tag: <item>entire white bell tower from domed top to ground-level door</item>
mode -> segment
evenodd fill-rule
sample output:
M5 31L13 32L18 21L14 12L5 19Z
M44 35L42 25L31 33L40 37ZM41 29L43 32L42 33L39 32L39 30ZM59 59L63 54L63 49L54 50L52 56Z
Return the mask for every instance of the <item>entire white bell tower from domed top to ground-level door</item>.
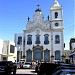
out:
M63 40L63 12L62 7L57 0L54 0L50 8L50 24L51 24L51 55L53 59L61 59L64 53L64 40ZM58 46L58 47L57 47ZM60 48L59 48L60 47ZM59 52L59 58L55 52ZM53 60L52 59L52 60Z

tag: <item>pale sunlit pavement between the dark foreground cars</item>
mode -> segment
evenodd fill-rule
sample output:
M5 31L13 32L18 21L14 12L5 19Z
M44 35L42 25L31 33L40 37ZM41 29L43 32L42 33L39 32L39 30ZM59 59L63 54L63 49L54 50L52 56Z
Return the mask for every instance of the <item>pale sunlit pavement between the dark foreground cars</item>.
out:
M37 75L33 69L17 69L16 75Z

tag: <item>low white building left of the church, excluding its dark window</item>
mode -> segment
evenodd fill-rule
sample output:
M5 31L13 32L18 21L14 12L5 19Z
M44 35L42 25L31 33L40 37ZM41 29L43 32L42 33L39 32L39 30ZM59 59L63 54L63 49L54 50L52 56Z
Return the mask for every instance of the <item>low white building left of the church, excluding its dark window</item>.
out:
M10 53L10 45L14 46L14 53ZM17 59L17 48L15 43L8 40L0 39L0 60L13 61Z

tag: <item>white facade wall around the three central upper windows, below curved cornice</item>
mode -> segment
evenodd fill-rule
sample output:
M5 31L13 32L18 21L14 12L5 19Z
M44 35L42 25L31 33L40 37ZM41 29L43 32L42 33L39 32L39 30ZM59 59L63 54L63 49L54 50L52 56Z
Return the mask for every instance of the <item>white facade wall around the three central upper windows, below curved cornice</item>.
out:
M41 29L36 29L36 30L39 30L40 31L40 33L39 33L39 35L40 35L40 46L43 46L44 47L44 50L47 48L47 49L49 49L49 50L51 50L51 33L50 32L45 32L45 31L42 31ZM31 32L31 33L25 33L26 35L26 41L25 41L25 50L28 50L28 49L31 49L32 50L32 48L33 48L33 45L34 46L36 46L37 44L35 44L35 41L36 41L36 35L37 35L37 33L36 33L36 30L35 31L33 31L33 32ZM31 45L27 45L27 35L32 35L32 44ZM48 34L49 35L49 44L48 45L45 45L44 44L44 35L45 34Z

